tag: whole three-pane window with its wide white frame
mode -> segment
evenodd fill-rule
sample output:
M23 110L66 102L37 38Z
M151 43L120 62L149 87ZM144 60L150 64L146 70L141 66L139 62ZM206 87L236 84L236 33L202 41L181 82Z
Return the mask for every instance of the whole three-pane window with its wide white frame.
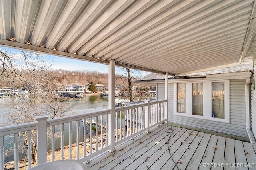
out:
M230 123L230 80L174 82L174 96L174 115Z

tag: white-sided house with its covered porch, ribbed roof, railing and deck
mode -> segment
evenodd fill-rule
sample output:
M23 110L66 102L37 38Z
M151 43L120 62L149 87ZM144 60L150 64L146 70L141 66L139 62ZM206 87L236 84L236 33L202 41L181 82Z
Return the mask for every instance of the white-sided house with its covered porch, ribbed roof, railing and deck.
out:
M55 128L60 159L67 128L69 148L76 136L68 158L89 170L255 169L255 0L2 0L0 6L1 46L101 63L109 76L108 109L0 127L1 169L6 136L14 136L18 169L18 134L28 133L31 153L36 130L37 164L44 164L48 142L52 150L58 142ZM139 82L156 85L156 100L115 107L115 67L161 74ZM100 132L88 137L86 119L107 128L96 126ZM31 154L27 160L30 168Z

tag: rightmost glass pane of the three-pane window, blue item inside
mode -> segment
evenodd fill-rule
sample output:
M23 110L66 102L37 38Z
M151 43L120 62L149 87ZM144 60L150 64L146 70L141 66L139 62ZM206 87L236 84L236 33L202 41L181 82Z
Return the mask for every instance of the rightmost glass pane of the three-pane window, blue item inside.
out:
M224 82L212 82L212 117L224 119Z

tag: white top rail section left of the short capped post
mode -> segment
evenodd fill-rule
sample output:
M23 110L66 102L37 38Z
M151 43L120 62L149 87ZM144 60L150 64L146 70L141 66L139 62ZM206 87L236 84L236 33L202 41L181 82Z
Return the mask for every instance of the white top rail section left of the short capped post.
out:
M37 122L30 122L30 123L23 123L23 124L19 124L19 125L0 127L0 136L24 132L24 131L28 131L28 130L35 130L35 129L37 129Z

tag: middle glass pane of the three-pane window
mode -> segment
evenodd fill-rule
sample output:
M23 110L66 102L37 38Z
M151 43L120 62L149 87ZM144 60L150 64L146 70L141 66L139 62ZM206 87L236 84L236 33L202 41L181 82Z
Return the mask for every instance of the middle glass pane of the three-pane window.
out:
M193 83L193 115L203 115L203 83Z

